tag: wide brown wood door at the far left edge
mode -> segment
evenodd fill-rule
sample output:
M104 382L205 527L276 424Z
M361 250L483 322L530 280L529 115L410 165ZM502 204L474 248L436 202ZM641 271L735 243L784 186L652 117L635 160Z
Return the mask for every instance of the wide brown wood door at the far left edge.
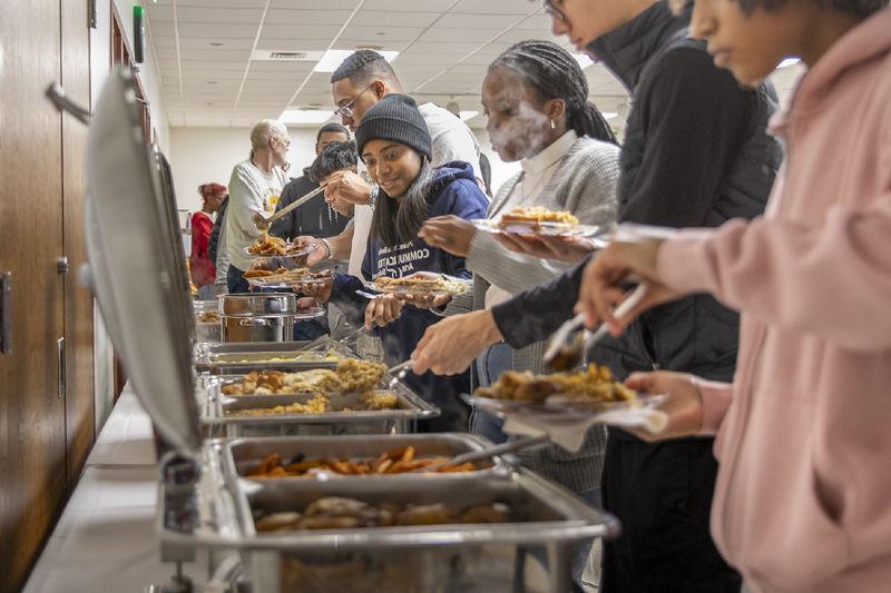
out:
M0 355L0 591L17 591L66 492L59 0L2 0L0 271L12 273L12 354Z

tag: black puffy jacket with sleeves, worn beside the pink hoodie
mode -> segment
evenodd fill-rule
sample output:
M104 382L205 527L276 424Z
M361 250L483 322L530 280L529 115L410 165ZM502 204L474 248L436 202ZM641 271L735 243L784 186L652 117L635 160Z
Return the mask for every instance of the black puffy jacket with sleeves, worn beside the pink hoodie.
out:
M688 22L689 12L676 17L658 2L588 48L631 92L620 221L681 228L753 218L780 167L782 149L765 131L773 88L743 89L716 69L704 43L687 38ZM580 278L579 267L495 307L507 342L544 339L571 317ZM549 317L536 316L541 310ZM695 295L647 312L619 338L603 339L591 359L619 377L664 368L731 380L737 343L738 316Z

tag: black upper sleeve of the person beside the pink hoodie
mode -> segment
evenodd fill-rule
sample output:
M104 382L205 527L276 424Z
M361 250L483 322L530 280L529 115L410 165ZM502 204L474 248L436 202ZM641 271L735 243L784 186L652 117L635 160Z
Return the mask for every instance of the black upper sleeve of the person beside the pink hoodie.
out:
M640 87L644 154L619 220L703 226L752 121L756 98L701 49L676 48Z

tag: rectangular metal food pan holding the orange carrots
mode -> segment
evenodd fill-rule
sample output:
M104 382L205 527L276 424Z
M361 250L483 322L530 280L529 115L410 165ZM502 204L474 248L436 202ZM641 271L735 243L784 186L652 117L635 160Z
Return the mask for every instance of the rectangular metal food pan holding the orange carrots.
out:
M241 438L226 442L223 451L223 457L226 468L232 475L245 477L249 472L256 470L266 456L275 453L281 455L284 459L293 458L296 455L303 455L307 459L336 458L364 461L378 457L384 452L404 448L408 446L414 447L415 458L454 457L464 453L482 451L487 446L491 446L491 443L479 436L467 433ZM477 466L479 467L479 471L477 472L463 472L454 474L390 474L381 477L435 477L446 480L468 477L476 478L488 473L505 473L509 467L509 465L501 457L496 457L493 461L477 462ZM276 480L307 478L281 477Z

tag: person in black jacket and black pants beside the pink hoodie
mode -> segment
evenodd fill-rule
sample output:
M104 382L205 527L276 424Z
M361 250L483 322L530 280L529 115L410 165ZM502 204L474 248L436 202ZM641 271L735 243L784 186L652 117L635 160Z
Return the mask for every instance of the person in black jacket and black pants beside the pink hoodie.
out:
M555 0L546 9L555 33L601 59L631 92L620 221L706 227L763 211L782 158L764 131L775 93L770 85L743 89L717 69L704 43L686 36L689 9L675 16L653 0ZM500 339L522 347L546 338L574 315L582 271L580 265L490 314L430 328L413 354L415 372L459 370ZM619 378L665 368L730 380L737 337L737 316L697 295L642 316L621 337L601 340L591 359ZM716 470L711 439L650 445L610 429L604 505L624 528L604 546L601 591L740 591L708 531Z

